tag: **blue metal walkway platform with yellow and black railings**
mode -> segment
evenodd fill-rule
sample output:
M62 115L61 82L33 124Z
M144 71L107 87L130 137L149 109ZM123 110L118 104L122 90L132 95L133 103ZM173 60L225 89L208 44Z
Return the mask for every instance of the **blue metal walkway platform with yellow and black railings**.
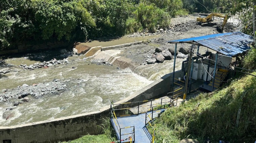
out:
M153 118L157 117L157 113L160 110L153 111ZM147 118L146 118L147 113ZM145 124L148 124L148 121L152 119L152 111L148 111L146 113L141 113L138 115L131 115L125 117L111 117L111 123L116 132L116 136L118 140L126 139L132 137L133 134L133 126L134 126L134 135L135 137L132 139L134 143L151 143L152 135L148 132ZM147 119L147 121L145 120ZM121 128L121 130L120 130ZM151 128L151 127L148 127ZM121 139L120 139L120 131L121 131ZM124 134L124 135L123 135ZM129 142L130 140L121 141L121 143Z

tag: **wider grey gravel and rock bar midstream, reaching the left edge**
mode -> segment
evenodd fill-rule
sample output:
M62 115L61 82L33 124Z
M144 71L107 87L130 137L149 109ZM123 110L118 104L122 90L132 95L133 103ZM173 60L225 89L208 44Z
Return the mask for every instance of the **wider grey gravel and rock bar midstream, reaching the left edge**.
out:
M22 86L18 86L17 88L12 90L2 90L3 93L0 94L0 102L5 102L10 98L23 98L23 101L28 102L29 99L25 98L28 95L31 95L35 99L39 99L44 95L60 94L65 90L67 90L67 85L60 82L59 80L54 80L47 83L33 84L32 86L23 84ZM15 105L18 105L19 103L20 102L17 102L15 103Z

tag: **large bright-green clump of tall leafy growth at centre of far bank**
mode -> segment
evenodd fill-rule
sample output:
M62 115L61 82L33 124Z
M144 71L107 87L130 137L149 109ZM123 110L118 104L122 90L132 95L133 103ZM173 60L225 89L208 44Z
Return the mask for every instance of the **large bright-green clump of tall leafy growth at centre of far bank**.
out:
M154 4L140 3L135 15L142 27L150 32L155 32L157 26L166 28L170 24L169 14Z

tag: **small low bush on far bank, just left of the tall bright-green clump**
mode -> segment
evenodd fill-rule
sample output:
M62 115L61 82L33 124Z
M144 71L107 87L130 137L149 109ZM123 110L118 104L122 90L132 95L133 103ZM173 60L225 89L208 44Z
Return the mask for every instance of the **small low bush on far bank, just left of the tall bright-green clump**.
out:
M135 18L128 18L126 21L126 33L141 32L143 30L142 25Z

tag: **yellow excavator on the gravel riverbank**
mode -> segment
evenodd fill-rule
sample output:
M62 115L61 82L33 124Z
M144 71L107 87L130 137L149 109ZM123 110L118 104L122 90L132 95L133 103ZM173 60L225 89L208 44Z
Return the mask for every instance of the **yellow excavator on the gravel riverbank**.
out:
M211 23L211 21L213 21L214 16L216 17L221 17L224 18L223 20L223 24L222 24L222 28L220 29L221 31L223 31L226 23L227 23L227 14L219 14L219 13L211 13L208 16L203 16L203 17L198 17L196 18L196 21L199 22L198 24L201 26L214 26L217 25L216 23Z

